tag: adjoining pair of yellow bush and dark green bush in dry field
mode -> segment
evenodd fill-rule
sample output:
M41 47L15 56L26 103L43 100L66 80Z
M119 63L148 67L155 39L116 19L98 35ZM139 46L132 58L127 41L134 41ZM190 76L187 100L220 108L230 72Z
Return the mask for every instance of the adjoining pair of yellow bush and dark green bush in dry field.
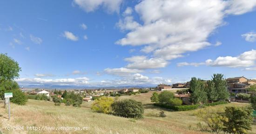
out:
M142 103L133 99L116 100L102 96L94 100L91 109L98 113L113 114L126 118L143 118Z

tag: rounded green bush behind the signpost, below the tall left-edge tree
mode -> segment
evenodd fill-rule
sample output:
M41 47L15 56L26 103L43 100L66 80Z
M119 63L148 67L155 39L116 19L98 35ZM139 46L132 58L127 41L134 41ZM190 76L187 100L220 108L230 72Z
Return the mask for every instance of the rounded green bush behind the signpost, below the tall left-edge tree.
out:
M18 104L18 105L25 105L26 102L27 102L27 96L22 93L20 91L20 89L13 89L13 90L9 90L9 91L6 91L6 93L8 92L12 92L13 93L13 97L10 98L10 101L15 103L15 104Z

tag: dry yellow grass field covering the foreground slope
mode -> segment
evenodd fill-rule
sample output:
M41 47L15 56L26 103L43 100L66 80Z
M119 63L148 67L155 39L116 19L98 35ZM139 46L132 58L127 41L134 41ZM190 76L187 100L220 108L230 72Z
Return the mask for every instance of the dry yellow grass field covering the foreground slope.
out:
M53 102L28 100L27 105L11 104L11 120L8 121L7 109L0 107L0 130L3 134L207 134L198 131L195 116L197 110L172 112L154 107L150 102L152 92L121 96L119 99L132 98L141 101L145 107L144 119L136 121L108 114L94 113L90 110L92 102L83 102L81 108L54 106ZM223 109L226 106L246 106L245 103L229 103L213 108ZM3 101L0 101L3 106ZM158 117L161 110L166 117ZM25 130L5 130L6 126L24 126ZM88 130L44 130L27 131L27 126L34 127L88 127ZM256 125L250 134L256 134Z

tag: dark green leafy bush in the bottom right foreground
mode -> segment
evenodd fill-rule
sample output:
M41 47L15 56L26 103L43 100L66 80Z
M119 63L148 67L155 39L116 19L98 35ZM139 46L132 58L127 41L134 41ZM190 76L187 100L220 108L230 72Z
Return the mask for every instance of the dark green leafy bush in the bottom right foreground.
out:
M223 131L231 134L247 134L251 130L252 108L251 107L226 107L223 114Z

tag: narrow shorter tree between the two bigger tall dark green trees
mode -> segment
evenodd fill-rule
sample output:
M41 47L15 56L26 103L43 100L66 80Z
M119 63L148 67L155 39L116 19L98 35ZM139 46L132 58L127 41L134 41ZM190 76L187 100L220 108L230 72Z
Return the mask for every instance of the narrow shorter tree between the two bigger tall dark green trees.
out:
M207 81L206 87L207 98L209 101L216 101L218 97L218 93L215 90L214 82L212 80Z

